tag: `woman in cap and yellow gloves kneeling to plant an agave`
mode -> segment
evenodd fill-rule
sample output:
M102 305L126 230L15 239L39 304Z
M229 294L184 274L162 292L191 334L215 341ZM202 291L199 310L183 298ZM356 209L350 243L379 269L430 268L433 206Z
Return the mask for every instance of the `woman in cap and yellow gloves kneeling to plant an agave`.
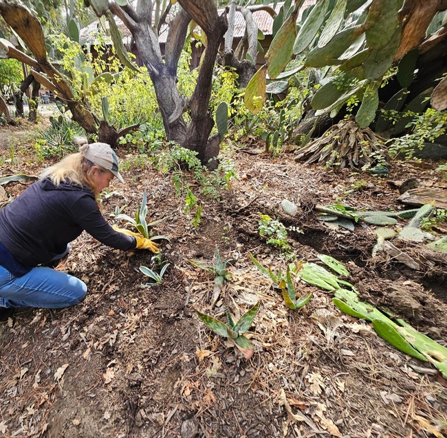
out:
M84 230L112 248L158 252L151 240L116 231L102 216L100 192L115 176L124 182L118 157L106 143L80 143L80 152L45 169L0 210L0 321L15 308L65 308L84 299L83 281L45 266L57 264Z

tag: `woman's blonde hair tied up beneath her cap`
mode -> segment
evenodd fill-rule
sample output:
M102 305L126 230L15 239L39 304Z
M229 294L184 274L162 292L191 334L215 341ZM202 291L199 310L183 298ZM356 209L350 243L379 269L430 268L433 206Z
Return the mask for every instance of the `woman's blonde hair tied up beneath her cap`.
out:
M87 150L89 146L87 139L83 137L78 137L76 143L78 143L80 152ZM91 168L96 164L83 157L80 152L70 154L58 163L44 169L41 173L41 179L50 178L56 186L65 183L67 180L74 184L86 185L94 192L96 198L98 198L99 193L96 191L96 187L91 178ZM107 170L98 165L96 167L99 168L100 172L107 172Z

